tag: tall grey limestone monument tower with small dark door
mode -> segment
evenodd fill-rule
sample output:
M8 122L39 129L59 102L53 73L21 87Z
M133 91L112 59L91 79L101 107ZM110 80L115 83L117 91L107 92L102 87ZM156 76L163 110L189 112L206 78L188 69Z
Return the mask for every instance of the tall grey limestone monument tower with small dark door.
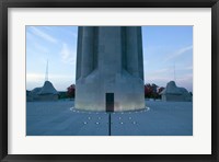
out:
M106 112L145 108L140 26L78 28L74 107Z

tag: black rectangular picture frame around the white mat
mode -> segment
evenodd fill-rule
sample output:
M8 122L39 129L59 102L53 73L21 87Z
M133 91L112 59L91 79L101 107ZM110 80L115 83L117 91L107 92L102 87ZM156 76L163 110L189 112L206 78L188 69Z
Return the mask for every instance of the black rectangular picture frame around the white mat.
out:
M0 2L0 160L23 161L219 161L219 0L1 0ZM9 8L211 8L211 154L8 154ZM58 146L57 146L58 147Z

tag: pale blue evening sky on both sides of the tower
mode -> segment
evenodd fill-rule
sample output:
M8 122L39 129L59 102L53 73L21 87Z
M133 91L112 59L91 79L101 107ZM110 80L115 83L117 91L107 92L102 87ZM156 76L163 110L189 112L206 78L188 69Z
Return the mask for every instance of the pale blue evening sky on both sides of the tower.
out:
M26 89L76 83L77 26L26 26ZM145 83L171 80L193 92L193 26L142 26Z

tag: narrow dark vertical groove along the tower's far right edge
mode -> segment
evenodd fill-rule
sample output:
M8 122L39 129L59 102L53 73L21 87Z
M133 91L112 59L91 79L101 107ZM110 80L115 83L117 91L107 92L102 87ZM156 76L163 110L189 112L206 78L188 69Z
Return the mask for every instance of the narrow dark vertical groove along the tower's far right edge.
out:
M143 54L142 54L142 33L141 27L137 27L137 45L138 45L138 70L139 77L143 80Z

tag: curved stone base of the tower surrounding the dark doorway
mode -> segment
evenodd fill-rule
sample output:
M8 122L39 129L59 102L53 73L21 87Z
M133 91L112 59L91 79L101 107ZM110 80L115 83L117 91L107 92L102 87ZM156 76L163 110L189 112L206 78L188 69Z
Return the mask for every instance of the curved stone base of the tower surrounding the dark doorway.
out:
M77 109L106 111L106 93L114 93L114 112L145 108L143 81L127 72L115 80L101 79L99 72L80 78L76 86Z

